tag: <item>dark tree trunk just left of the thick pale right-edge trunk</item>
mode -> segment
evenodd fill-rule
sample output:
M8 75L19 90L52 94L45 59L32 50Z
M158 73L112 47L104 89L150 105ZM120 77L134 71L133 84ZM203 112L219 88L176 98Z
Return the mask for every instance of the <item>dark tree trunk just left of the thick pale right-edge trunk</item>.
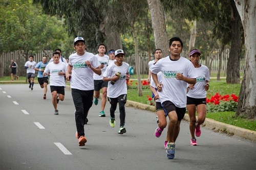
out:
M227 83L240 83L240 59L241 59L241 19L233 1L231 1L233 17L231 17L231 48L227 60Z

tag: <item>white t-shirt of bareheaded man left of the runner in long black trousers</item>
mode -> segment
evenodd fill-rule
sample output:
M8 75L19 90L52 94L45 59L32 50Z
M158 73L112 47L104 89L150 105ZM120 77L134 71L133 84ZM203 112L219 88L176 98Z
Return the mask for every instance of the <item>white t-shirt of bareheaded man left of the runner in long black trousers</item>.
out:
M46 69L44 72L50 73L50 85L51 86L65 86L65 75L58 75L58 72L66 72L67 66L63 62L59 62L55 64L54 62L49 63L46 66Z

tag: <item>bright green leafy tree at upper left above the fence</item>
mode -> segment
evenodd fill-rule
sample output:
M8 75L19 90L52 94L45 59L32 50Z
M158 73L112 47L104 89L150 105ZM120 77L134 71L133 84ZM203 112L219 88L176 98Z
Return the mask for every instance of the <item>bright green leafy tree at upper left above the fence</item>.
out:
M28 60L29 54L59 47L66 35L60 20L42 14L31 1L4 1L0 13L0 49L18 50L19 58Z

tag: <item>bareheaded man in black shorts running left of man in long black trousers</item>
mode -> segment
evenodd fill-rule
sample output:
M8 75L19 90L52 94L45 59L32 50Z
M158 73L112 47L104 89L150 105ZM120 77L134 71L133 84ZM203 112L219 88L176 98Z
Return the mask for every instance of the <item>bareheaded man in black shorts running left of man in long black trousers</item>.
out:
M43 73L43 76L50 75L50 89L52 93L52 104L54 107L54 114L59 114L57 109L57 94L59 100L63 101L65 97L65 79L64 75L67 70L65 63L60 62L60 53L54 52L52 54L53 62L49 63Z

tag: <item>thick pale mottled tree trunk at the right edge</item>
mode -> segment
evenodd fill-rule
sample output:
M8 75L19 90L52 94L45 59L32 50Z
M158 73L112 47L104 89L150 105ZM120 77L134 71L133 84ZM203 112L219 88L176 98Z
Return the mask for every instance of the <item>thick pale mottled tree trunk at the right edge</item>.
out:
M256 1L234 0L240 14L245 38L246 67L239 94L237 116L255 119L256 115Z

